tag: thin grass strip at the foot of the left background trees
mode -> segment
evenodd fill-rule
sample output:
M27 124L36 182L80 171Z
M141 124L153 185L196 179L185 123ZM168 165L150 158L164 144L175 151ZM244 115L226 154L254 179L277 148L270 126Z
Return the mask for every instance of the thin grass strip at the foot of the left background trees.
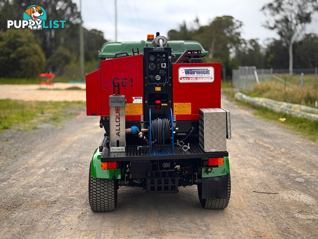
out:
M32 78L32 79L26 79L26 78L0 78L0 85L3 84L11 84L11 85L38 85L40 81L45 81L46 78L41 78L41 77L37 77L37 78ZM79 78L76 79L71 79L69 77L64 77L64 76L57 76L53 79L53 83L57 83L57 82L63 82L63 83L67 83L70 81L80 81Z

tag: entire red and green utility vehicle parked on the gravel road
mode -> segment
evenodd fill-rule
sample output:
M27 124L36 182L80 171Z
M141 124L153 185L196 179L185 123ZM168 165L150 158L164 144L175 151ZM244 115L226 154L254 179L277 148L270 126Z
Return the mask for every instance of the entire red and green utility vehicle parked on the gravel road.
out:
M178 52L181 41L159 32L138 44L114 47L86 76L87 115L105 129L89 167L91 209L115 210L119 186L177 193L197 185L204 208L227 207L231 124L221 108L221 64L203 63L199 43Z

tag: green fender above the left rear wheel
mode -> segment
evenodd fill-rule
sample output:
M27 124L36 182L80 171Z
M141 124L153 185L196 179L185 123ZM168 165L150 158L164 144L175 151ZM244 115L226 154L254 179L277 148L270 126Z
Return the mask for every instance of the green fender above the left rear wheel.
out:
M101 152L99 152L98 148L96 148L94 155L91 159L91 175L94 178L109 178L111 179L114 175L115 178L121 178L120 168L117 169L101 169L100 165L100 156Z

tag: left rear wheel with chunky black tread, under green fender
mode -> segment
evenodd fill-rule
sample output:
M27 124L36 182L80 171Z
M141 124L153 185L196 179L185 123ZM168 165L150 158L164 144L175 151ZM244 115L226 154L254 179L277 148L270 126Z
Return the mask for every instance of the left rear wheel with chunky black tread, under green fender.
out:
M114 211L117 205L117 180L94 178L89 165L88 201L94 212Z

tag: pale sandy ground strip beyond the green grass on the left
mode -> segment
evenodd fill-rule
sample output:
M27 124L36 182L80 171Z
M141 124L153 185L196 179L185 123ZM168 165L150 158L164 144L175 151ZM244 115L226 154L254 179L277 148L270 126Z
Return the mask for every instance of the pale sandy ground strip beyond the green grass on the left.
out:
M54 83L46 85L0 85L0 99L20 101L86 101L83 90L64 90L69 87L85 89L85 84ZM54 89L63 89L54 90Z

